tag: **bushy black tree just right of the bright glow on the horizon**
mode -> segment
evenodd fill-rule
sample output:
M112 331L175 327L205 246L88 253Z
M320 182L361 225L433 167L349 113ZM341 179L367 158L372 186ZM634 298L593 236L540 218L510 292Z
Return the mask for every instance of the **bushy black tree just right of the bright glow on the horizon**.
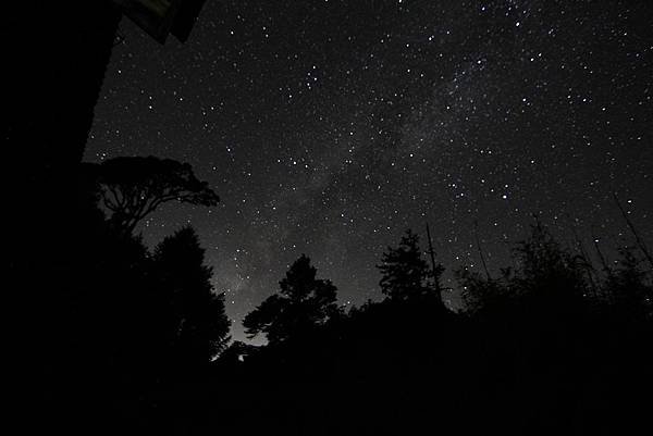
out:
M243 326L249 337L264 333L273 345L306 334L341 313L336 304L336 287L331 281L316 278L317 270L304 254L293 263L280 285L280 291L268 297L245 316Z

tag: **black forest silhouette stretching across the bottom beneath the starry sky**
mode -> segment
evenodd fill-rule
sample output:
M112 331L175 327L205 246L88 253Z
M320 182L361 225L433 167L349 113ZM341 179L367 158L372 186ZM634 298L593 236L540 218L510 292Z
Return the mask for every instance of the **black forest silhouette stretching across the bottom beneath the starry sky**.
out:
M146 164L145 177L127 170ZM653 277L637 244L594 265L535 221L496 277L455 271L459 312L411 231L380 253L384 298L348 311L303 254L245 317L267 339L252 346L231 341L192 227L152 250L125 227L153 198L214 204L192 169L153 157L79 169L84 245L52 300L44 394L57 410L93 398L107 434L617 434L645 422Z

